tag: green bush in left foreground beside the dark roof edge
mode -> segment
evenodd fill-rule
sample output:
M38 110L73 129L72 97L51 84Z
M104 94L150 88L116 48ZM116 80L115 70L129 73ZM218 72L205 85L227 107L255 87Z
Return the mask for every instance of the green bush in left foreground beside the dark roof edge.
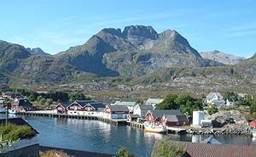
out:
M17 126L8 123L7 126L0 125L0 135L2 140L16 141L24 138L36 136L36 132L30 126Z

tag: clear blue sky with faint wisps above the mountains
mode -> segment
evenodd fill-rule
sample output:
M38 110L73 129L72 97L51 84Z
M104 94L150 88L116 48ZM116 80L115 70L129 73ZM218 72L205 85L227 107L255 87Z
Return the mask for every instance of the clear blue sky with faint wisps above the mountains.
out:
M206 3L207 2L207 3ZM0 40L59 53L102 28L152 25L176 30L201 51L256 53L256 1L5 0Z

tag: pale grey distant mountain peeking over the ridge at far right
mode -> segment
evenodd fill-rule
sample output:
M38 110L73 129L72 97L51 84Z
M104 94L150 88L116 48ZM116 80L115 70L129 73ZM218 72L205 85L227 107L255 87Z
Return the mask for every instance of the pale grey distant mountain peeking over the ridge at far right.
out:
M204 59L211 59L223 64L238 64L245 60L243 57L238 57L228 53L221 53L217 50L210 52L201 52L201 57Z

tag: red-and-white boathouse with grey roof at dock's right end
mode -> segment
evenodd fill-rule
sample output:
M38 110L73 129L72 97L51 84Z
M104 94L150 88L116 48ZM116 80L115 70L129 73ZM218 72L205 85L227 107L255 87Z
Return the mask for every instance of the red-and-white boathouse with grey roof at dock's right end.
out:
M125 105L107 105L104 110L104 118L127 119L129 109Z

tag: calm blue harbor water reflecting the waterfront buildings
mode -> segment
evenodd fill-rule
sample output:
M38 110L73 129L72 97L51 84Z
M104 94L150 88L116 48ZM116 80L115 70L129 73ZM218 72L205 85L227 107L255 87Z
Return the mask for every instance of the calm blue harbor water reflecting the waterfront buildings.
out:
M20 116L20 115L9 115ZM137 157L150 156L154 143L164 135L144 132L131 126L115 126L103 121L22 116L39 132L39 143L43 146L79 149L90 152L115 154L126 148ZM0 119L5 118L0 114ZM209 135L168 134L173 141L201 142ZM218 135L220 143L256 145L250 136Z

